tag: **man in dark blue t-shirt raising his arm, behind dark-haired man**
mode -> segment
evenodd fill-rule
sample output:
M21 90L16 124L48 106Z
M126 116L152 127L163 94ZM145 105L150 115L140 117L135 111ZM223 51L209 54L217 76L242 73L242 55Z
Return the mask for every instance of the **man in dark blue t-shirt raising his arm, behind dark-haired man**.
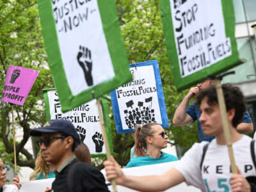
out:
M189 107L189 101L198 95L202 90L208 88L209 86L214 86L215 80L212 78L208 78L207 80L203 81L202 83L198 83L197 86L190 88L188 94L184 97L182 102L180 102L178 108L175 110L173 116L173 124L177 126L187 125L194 121L197 121L197 129L198 129L198 136L199 141L211 141L214 139L214 136L205 136L201 123L198 120L200 117L200 109L195 106L195 102L193 102ZM241 122L237 124L236 127L237 131L243 134L248 134L253 132L253 124L251 117L246 110L244 113Z

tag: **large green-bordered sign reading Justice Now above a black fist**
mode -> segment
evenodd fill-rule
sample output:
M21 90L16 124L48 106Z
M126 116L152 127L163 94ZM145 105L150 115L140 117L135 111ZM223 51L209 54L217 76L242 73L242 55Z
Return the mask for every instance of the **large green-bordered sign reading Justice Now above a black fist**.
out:
M38 0L62 111L132 80L114 0Z

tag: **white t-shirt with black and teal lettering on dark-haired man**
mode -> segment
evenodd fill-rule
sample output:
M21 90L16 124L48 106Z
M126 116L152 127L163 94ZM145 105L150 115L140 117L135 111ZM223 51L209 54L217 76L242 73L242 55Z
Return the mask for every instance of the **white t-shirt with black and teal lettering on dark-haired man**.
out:
M244 177L256 176L252 161L250 143L252 138L243 135L241 140L233 143L234 157L239 170ZM230 160L227 145L218 145L212 140L205 153L202 170L203 148L207 141L195 143L180 159L175 168L184 176L188 185L200 188L202 191L232 191L230 187Z

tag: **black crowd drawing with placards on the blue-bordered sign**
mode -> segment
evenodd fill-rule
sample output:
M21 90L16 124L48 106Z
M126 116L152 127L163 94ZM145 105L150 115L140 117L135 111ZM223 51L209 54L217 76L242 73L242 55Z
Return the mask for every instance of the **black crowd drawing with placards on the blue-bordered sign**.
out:
M145 104L145 106L144 106ZM134 106L133 100L126 103L125 124L129 129L134 129L135 125L144 125L150 122L156 122L155 109L152 108L152 97L145 99L145 103L139 101L138 106ZM130 109L131 108L131 109Z

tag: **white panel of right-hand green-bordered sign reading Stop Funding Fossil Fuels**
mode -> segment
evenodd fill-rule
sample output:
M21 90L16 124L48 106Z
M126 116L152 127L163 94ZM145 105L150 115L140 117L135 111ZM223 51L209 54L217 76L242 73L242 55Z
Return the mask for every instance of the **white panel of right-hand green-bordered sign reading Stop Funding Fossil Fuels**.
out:
M232 54L221 0L170 0L180 75L189 76Z

